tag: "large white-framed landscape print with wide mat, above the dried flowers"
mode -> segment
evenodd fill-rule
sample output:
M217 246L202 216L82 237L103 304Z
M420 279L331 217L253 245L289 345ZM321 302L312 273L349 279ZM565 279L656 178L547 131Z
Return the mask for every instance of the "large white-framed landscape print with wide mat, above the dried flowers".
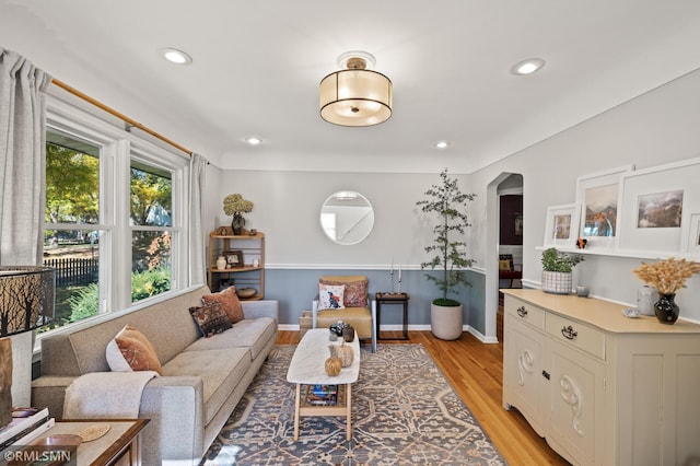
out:
M692 214L700 212L700 159L622 175L619 247L664 254L690 252Z

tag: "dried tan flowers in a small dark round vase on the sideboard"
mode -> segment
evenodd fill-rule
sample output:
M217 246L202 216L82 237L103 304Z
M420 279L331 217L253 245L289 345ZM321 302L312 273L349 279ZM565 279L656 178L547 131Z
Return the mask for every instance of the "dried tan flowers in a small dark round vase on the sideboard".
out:
M656 264L644 264L632 270L645 283L658 291L654 314L662 324L675 324L680 314L676 292L686 287L686 280L700 271L700 264L669 257Z

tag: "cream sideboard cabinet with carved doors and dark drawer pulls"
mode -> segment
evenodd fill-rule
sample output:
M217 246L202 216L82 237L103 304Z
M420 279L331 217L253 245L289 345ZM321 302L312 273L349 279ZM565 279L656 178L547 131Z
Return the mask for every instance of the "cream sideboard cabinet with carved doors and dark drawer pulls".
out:
M505 409L573 464L700 464L700 325L502 291Z

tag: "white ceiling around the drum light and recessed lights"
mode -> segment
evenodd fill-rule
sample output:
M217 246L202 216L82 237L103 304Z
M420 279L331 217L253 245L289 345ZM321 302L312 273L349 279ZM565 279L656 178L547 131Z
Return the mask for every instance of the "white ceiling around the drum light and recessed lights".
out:
M470 173L700 68L699 45L697 0L0 0L0 46L224 168ZM318 115L355 49L394 83L375 127Z

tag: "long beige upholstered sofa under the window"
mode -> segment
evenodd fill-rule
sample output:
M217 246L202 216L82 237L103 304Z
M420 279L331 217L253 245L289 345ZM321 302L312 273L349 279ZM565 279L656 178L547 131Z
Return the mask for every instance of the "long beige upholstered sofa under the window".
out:
M211 338L201 337L189 307L201 305L207 287L97 325L42 339L40 376L32 403L61 417L66 388L83 374L109 372L105 350L127 324L153 345L162 376L141 395L143 464L199 464L275 346L277 301L244 301L244 319Z

